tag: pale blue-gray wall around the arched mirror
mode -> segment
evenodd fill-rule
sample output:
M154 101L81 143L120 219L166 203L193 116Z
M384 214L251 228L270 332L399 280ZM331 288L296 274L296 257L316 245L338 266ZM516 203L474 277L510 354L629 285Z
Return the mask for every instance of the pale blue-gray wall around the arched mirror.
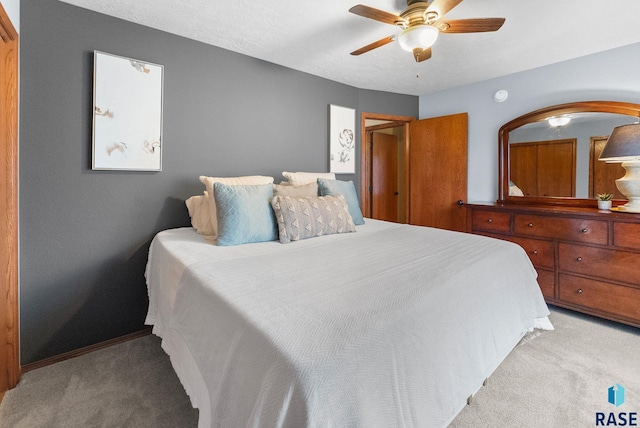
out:
M505 59L508 60L508 59ZM468 200L498 196L498 130L533 110L574 101L640 103L640 43L420 97L420 118L469 112ZM498 89L509 91L503 103Z

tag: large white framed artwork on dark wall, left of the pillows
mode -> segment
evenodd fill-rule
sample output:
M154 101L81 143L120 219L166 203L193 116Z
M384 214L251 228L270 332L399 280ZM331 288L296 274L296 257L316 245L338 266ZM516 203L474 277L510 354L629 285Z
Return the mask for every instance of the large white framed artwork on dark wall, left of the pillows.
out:
M94 170L162 170L161 65L94 52Z

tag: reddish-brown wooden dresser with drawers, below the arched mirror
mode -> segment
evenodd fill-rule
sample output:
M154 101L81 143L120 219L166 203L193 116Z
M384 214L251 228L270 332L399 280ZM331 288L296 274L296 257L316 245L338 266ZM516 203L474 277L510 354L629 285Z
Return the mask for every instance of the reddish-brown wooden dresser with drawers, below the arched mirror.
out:
M468 204L467 231L522 246L548 303L640 327L640 214Z

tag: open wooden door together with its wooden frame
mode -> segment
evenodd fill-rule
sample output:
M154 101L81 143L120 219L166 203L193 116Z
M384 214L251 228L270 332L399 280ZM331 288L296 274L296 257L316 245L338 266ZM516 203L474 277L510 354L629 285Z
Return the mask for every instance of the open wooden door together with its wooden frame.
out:
M378 121L377 123L375 121ZM398 200L398 222L417 226L466 230L468 114L457 113L416 120L407 116L362 113L361 206L374 216L376 204L393 206ZM401 128L397 157L396 192L375 200L374 151L368 131ZM374 144L375 146L375 144ZM383 155L384 156L384 155ZM376 172L376 175L378 172ZM393 210L393 208L392 208Z

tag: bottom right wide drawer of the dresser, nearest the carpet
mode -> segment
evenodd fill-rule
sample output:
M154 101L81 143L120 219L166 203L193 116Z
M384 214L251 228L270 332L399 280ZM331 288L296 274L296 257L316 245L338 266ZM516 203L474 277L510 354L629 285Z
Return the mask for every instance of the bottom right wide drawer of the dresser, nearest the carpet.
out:
M559 298L599 311L640 320L640 289L560 274Z

